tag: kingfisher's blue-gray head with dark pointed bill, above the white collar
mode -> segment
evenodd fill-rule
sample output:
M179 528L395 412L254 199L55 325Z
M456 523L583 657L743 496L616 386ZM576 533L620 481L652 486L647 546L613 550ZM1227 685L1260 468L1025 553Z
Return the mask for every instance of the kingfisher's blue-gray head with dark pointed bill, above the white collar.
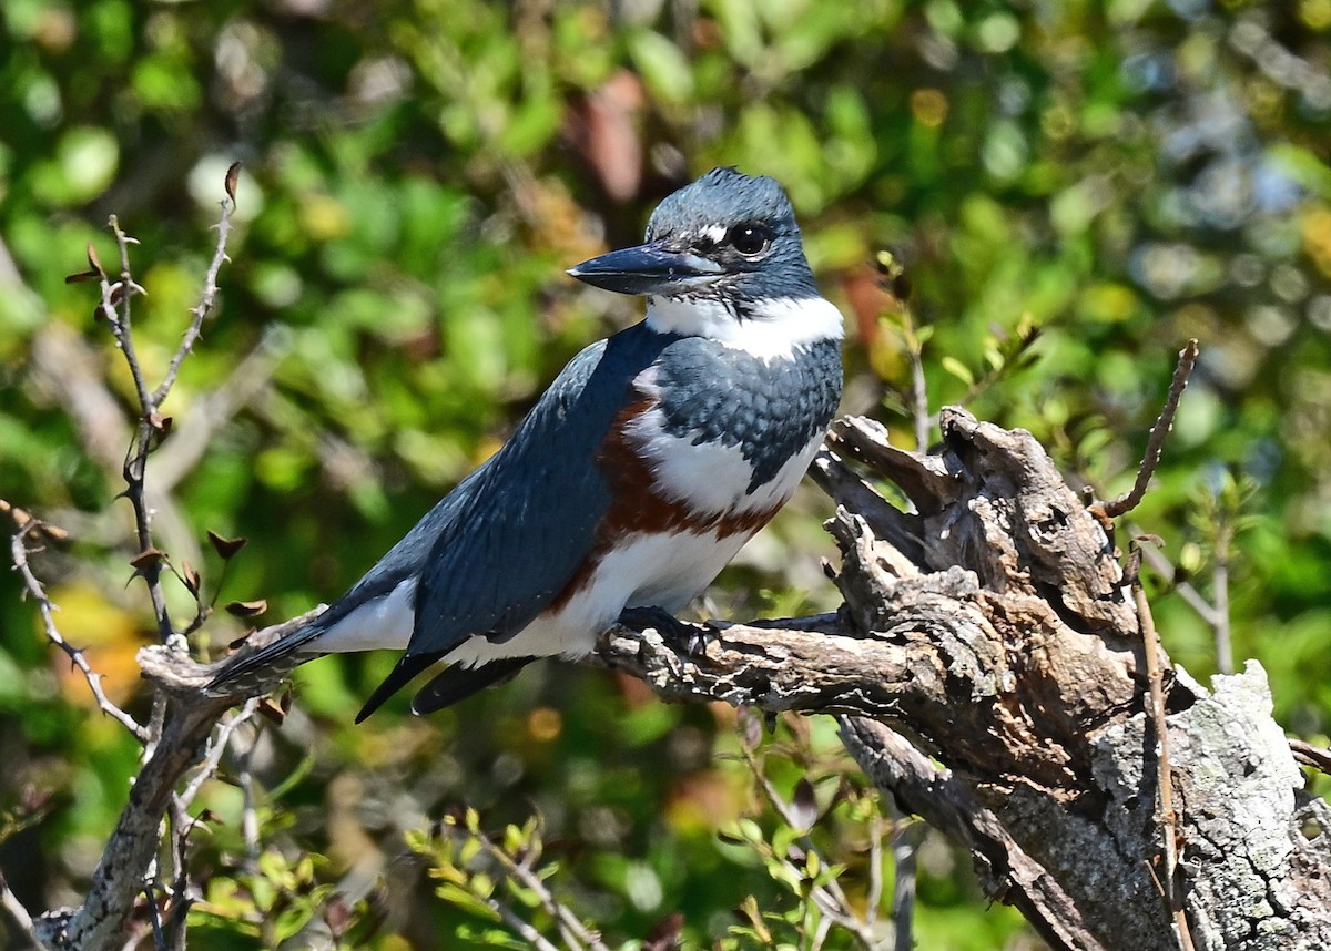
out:
M568 273L620 294L680 302L817 297L785 192L765 176L720 168L666 198L646 243Z

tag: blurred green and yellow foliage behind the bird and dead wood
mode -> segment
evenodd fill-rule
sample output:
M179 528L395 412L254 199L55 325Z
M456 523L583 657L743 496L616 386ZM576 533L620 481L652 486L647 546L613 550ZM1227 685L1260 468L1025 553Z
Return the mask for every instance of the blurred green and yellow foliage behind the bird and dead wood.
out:
M133 654L153 628L116 497L133 388L95 286L63 282L88 242L116 259L108 215L140 242L136 339L156 380L244 162L220 305L149 481L158 547L206 597L266 599L256 622L274 622L339 595L570 356L639 319L640 302L564 267L737 165L787 186L847 315L844 408L901 446L918 358L930 412L1026 427L1106 497L1199 338L1127 527L1163 539L1157 622L1194 676L1260 660L1286 729L1326 742L1328 35L1331 0L5 0L0 497L72 532L35 564L65 636L142 713ZM884 250L904 275L876 267ZM833 609L829 513L805 487L701 611ZM225 577L208 529L250 540ZM138 745L19 591L0 572L0 869L36 911L80 894ZM244 629L218 613L196 642L218 652ZM825 718L783 721L752 751L728 708L543 664L429 720L398 697L354 728L394 660L303 668L282 729L246 733L249 759L202 791L196 947L319 928L381 948L498 942L443 887L457 857L429 830L459 805L488 830L539 815L550 887L612 947L671 912L692 947L761 944L752 922L731 931L743 907L773 915L776 940L801 904L749 841L781 826L759 774L788 798L811 781L828 811L813 839L852 904L880 859L890 891L890 849L870 839L904 823L870 821ZM1038 947L964 854L920 838L920 947Z

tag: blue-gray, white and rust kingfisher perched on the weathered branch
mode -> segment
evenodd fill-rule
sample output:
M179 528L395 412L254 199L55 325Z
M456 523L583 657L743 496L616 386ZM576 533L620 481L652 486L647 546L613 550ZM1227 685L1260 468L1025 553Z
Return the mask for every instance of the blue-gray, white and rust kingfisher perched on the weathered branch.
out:
M437 661L430 713L539 657L591 653L630 609L675 612L785 504L841 396L837 309L772 178L715 169L646 243L568 274L647 298L578 354L512 438L305 628L224 665L405 649L357 717Z

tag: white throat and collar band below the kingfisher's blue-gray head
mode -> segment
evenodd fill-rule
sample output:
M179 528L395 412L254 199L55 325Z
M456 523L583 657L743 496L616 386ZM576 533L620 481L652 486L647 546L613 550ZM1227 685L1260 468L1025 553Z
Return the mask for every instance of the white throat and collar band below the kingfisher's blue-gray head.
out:
M647 326L663 334L705 337L761 359L789 358L844 334L841 311L821 297L755 301L743 318L724 299L651 297Z

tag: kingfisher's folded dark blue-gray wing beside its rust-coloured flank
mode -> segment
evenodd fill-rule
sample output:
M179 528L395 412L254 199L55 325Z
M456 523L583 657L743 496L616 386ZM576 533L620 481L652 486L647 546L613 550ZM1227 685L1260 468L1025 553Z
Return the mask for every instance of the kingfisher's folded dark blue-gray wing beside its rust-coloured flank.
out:
M672 339L638 325L583 350L504 447L422 520L433 544L409 657L510 637L572 580L610 507L602 446Z

